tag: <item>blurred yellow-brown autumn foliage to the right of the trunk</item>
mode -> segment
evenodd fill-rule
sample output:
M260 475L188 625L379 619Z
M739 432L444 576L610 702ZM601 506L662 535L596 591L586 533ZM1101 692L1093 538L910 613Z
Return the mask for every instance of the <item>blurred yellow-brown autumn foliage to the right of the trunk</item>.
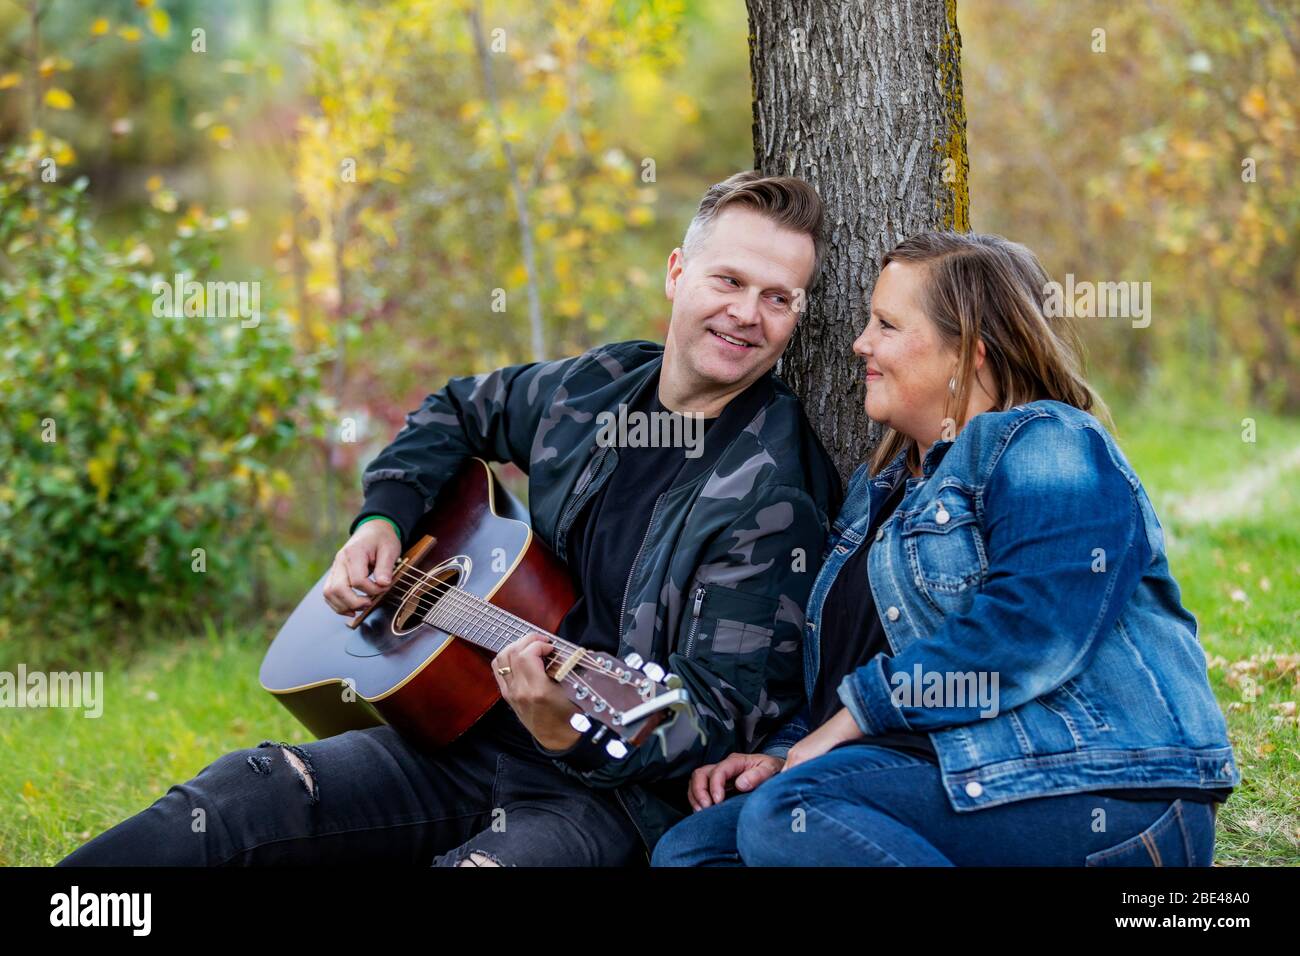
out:
M1058 280L1152 282L1149 328L1082 323L1093 372L1132 398L1300 412L1300 4L959 16L976 228Z

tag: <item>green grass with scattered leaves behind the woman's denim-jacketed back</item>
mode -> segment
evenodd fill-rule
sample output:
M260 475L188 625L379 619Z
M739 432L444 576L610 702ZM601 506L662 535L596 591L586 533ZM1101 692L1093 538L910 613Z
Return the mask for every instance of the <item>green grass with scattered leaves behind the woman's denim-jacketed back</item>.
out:
M1231 486L1300 446L1300 421L1249 412L1178 419L1117 414L1121 444L1166 532L1183 604L1200 623L1210 685L1223 706L1242 787L1221 808L1221 865L1300 862L1300 470L1278 475L1226 516L1179 522L1187 496Z

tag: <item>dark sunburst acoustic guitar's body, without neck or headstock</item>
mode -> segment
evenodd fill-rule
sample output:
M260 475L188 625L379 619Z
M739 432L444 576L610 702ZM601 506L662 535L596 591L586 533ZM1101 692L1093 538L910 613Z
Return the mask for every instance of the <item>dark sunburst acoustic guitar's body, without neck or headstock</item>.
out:
M413 538L432 548L403 574L450 568L456 584L551 631L576 600L568 570L534 537L526 510L481 459L438 496ZM443 574L441 572L441 574ZM422 620L407 601L381 602L355 630L325 604L325 576L276 635L261 685L318 737L387 723L421 749L464 734L500 697L491 653ZM403 613L406 609L406 613ZM417 610L417 609L416 609Z

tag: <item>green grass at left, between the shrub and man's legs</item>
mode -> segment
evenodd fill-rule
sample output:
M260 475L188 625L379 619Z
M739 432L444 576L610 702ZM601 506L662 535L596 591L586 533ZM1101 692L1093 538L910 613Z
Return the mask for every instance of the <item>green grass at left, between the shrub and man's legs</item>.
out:
M269 633L209 630L129 666L86 665L104 671L98 718L0 711L0 865L53 864L222 753L303 737L257 683Z

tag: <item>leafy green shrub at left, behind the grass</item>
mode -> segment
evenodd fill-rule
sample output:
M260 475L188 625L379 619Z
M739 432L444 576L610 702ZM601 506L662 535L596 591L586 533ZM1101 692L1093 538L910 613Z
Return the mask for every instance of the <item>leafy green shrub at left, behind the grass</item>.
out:
M160 252L99 242L84 179L40 181L48 151L0 159L0 662L5 637L121 636L247 596L276 463L320 428L316 362L265 300L255 326L156 308L176 273L252 278L217 273L224 221L159 219Z

